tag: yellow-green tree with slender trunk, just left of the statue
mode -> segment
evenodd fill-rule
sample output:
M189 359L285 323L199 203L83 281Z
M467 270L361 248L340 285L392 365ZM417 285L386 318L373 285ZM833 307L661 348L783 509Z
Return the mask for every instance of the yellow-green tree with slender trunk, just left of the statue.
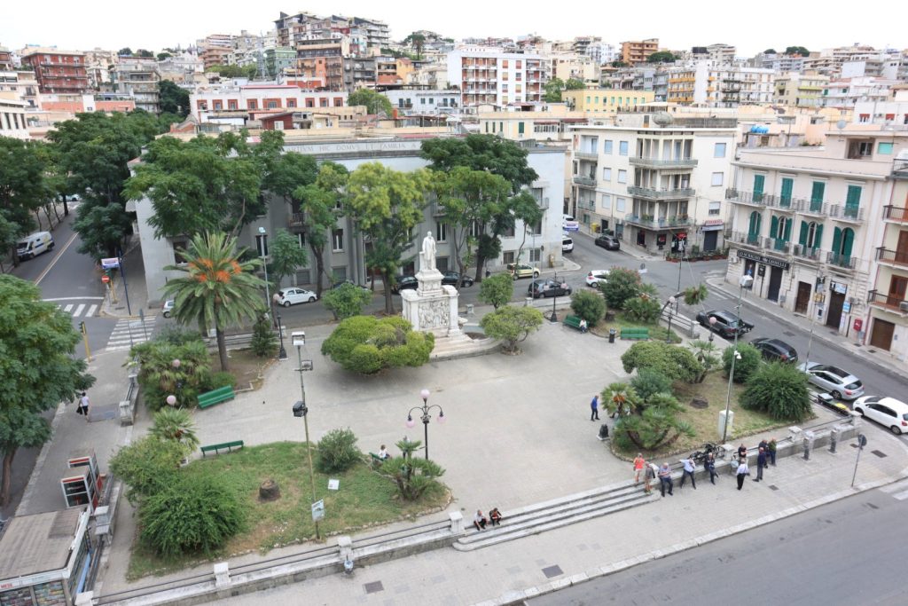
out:
M385 311L394 312L391 286L401 257L413 244L413 228L422 221L431 174L420 169L401 173L384 164L360 164L347 182L347 212L366 236L366 263L381 273Z

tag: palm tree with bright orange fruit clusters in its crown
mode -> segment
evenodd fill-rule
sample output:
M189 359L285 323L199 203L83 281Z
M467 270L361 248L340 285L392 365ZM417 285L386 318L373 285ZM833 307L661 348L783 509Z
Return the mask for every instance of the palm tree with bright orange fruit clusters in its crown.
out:
M164 267L186 274L167 283L164 293L173 297L173 314L179 322L198 322L204 331L214 327L222 371L229 370L224 328L239 326L244 318L254 321L265 311L265 282L253 273L262 261L241 263L242 253L236 238L226 233L199 233L183 253L185 265Z

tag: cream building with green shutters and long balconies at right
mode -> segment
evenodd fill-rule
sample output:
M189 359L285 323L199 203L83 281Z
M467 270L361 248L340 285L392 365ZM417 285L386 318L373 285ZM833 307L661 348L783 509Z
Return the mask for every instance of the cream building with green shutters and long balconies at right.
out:
M842 334L865 330L893 158L906 149L905 133L858 129L824 147L739 148L726 280L753 275L755 296Z

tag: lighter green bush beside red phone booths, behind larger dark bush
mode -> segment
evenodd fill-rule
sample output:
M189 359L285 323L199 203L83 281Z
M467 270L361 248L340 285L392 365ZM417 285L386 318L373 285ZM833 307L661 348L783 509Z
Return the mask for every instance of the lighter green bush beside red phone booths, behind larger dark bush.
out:
M117 451L110 468L129 487L126 498L134 505L176 482L183 454L178 442L146 436Z

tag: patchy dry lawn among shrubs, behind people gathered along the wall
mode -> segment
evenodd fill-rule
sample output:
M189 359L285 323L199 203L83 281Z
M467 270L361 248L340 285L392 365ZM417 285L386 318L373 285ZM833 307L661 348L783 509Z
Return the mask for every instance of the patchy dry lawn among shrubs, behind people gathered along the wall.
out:
M685 408L680 417L689 422L694 427L696 436L693 438L681 437L665 449L644 452L647 458L661 458L663 456L685 452L690 453L699 449L704 442L718 443L722 436L717 433L719 423L719 411L725 410L725 397L728 393L728 379L722 371L708 373L702 383L682 383L677 382L674 385L675 396L678 402ZM732 432L726 438L727 442L737 445L745 436L755 433L765 432L774 427L787 427L788 422L777 422L768 415L761 412L748 411L738 404L738 397L744 392L744 385L732 384L732 398L729 410L735 412L735 421L732 426ZM706 408L694 408L690 405L691 400L700 398L708 402ZM783 437L780 433L779 437ZM745 444L754 446L753 443ZM634 457L637 451L634 449L621 450L613 442L613 448L617 454L625 457Z

